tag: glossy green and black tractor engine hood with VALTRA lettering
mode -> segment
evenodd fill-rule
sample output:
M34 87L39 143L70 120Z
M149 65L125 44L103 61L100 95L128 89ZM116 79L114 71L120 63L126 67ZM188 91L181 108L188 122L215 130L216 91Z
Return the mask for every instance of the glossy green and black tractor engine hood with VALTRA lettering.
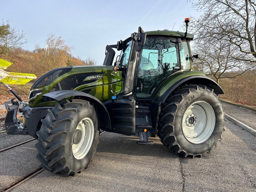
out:
M89 93L101 101L109 100L122 92L121 72L114 72L113 66L74 66L56 68L41 76L31 87L29 105L48 105L50 100L42 97L52 91L76 90ZM39 102L38 99L41 98ZM45 99L46 98L46 99ZM41 104L40 104L41 105Z

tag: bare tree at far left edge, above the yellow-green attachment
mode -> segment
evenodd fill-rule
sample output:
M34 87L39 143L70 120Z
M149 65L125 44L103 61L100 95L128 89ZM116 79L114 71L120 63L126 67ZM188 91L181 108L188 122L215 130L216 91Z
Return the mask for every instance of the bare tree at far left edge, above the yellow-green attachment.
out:
M11 49L21 47L27 43L23 31L12 28L9 22L2 20L0 24L0 52L7 58Z

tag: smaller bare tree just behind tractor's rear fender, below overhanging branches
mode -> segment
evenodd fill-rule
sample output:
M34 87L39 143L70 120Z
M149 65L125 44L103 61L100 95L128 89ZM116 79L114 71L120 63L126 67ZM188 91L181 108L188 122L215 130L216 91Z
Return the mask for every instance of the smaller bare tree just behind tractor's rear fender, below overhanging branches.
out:
M223 39L214 44L211 39L201 40L197 42L195 52L200 53L199 58L194 60L195 69L213 76L217 83L220 79L240 76L254 67L249 61L235 59L241 58L243 53L237 51L234 44Z

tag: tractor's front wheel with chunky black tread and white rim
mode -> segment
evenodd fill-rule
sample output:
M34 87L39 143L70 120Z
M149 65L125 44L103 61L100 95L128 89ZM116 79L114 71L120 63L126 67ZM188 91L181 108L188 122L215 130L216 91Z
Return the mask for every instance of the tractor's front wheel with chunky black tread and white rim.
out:
M88 101L72 100L56 102L48 112L37 132L36 157L47 171L75 176L92 161L99 142L95 109Z

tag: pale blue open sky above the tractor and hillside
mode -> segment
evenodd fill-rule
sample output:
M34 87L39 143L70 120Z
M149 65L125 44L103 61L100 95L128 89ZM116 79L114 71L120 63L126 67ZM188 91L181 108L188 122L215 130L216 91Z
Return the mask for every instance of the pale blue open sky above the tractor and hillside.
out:
M45 47L48 34L61 36L73 47L72 55L90 57L102 65L107 44L116 44L137 32L182 31L186 17L198 17L187 0L0 0L0 19L23 30L27 39L24 49L35 44ZM188 28L189 32L189 28Z

